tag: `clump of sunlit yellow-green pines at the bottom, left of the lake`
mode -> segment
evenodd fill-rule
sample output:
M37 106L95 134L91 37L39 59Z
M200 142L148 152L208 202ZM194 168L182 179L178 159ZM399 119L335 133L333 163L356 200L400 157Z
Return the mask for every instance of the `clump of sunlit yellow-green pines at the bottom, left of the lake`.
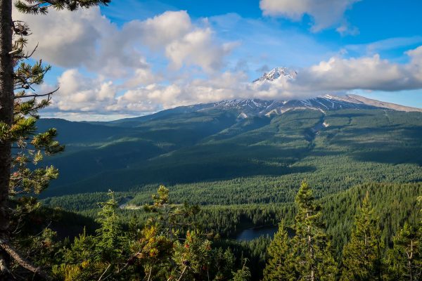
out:
M244 265L234 270L229 249L212 247L213 236L191 221L197 207L171 204L161 186L154 203L145 206L153 215L145 226L136 221L129 231L118 222L113 192L98 212L96 235L82 233L60 249L60 264L53 266L58 280L245 280Z

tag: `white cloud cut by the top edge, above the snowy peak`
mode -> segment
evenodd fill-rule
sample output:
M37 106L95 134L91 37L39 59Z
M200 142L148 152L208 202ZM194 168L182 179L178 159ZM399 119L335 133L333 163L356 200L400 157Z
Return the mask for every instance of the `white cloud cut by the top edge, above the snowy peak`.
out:
M302 20L307 14L314 20L311 30L319 32L328 27L338 26L342 34L356 33L356 27L345 24L343 15L347 8L360 0L260 0L260 8L264 15L279 16L290 20Z

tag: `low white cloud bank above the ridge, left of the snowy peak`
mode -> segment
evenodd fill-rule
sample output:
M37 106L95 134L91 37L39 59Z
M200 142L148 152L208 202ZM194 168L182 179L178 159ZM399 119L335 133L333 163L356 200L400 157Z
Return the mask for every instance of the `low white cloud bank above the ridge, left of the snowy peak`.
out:
M245 81L247 77L243 72L224 72L212 79L188 82L181 79L173 84L148 84L127 89L127 85L115 85L110 80L98 77L85 77L77 69L70 69L58 77L60 89L53 97L49 112L60 110L69 115L79 112L84 116L143 115L179 105L235 98L239 89L246 89L248 83ZM51 89L53 87L44 86L41 91Z

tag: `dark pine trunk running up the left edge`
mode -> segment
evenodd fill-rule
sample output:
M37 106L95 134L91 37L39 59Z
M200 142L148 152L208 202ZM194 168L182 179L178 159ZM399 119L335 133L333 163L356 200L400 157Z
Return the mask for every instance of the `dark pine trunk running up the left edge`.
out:
M0 0L0 123L13 119L12 0ZM0 140L0 239L8 239L11 142Z

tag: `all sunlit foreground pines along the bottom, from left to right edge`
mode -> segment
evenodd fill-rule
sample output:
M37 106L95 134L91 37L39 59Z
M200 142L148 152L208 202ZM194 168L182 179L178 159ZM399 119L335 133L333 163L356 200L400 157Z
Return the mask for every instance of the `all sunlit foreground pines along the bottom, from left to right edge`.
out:
M98 210L94 232L84 231L70 241L45 228L22 240L20 249L31 253L36 265L55 280L414 281L422 277L418 223L404 223L390 243L383 243L369 192L355 210L350 236L338 254L325 223L330 204L315 200L305 181L295 197L295 218L283 219L271 242L222 240L198 223L202 214L198 206L172 203L164 186L153 195L152 204L135 210L148 216L132 216L128 224L121 223L115 194L109 192L108 198ZM23 269L16 265L14 270Z

